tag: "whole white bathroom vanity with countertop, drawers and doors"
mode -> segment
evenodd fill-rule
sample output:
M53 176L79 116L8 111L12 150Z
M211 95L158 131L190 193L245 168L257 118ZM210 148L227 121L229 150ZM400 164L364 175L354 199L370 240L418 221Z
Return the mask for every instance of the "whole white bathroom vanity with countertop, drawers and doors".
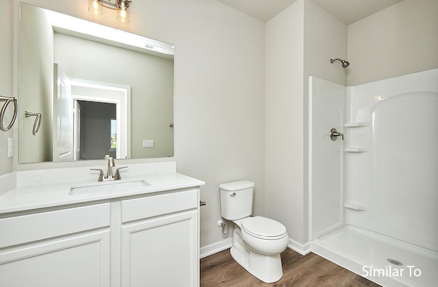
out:
M50 172L0 197L0 286L198 286L204 182L175 169L46 184Z

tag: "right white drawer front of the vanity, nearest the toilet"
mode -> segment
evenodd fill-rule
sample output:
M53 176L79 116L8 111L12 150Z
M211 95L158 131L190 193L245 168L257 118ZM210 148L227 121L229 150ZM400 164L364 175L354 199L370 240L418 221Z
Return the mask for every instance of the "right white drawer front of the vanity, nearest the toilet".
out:
M122 201L122 223L197 208L198 190L184 190Z

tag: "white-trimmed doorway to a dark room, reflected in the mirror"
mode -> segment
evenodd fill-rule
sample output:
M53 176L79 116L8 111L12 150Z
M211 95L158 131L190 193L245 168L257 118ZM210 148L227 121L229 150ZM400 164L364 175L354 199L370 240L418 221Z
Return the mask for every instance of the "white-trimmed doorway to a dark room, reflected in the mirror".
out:
M129 158L131 88L73 78L70 82L73 102L80 107L73 120L75 160L103 159L105 155Z

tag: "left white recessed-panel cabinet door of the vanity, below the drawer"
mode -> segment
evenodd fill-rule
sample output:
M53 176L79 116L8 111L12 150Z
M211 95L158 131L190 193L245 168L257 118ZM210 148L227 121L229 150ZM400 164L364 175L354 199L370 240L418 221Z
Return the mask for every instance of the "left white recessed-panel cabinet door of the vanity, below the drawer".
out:
M3 249L0 286L110 286L110 230Z

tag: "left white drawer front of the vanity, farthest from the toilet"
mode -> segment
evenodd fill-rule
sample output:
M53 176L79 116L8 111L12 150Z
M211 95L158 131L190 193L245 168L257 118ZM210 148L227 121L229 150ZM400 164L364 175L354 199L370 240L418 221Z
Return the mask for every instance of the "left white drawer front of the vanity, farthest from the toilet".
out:
M0 248L110 226L110 203L0 219Z

